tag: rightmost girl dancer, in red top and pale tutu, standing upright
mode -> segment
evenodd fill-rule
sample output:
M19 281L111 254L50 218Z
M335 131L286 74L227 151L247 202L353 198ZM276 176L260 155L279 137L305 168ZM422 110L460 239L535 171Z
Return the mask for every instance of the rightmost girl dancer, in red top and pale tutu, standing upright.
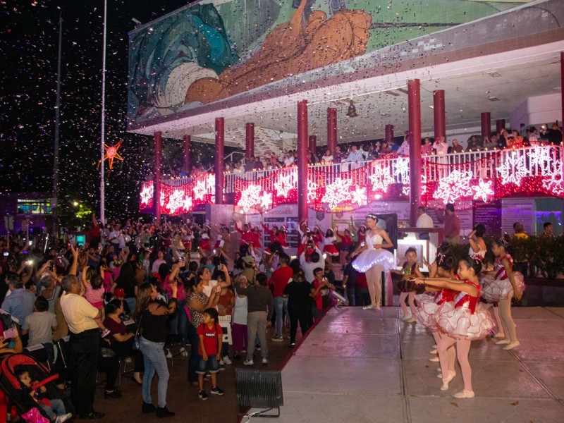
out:
M519 346L515 322L511 316L511 298L520 300L525 290L523 275L513 271L513 258L508 254L508 249L509 243L505 238L497 238L492 243L491 251L496 256L495 280L484 281L482 290L482 297L487 302L498 302L505 338L496 341L496 344L505 345L504 350L512 350Z

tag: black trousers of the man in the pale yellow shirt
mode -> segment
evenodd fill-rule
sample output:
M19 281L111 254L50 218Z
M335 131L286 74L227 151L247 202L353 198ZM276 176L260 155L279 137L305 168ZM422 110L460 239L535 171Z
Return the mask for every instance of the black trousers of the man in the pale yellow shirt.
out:
M94 410L100 330L96 328L71 333L69 347L72 369L71 401L78 415L87 415Z

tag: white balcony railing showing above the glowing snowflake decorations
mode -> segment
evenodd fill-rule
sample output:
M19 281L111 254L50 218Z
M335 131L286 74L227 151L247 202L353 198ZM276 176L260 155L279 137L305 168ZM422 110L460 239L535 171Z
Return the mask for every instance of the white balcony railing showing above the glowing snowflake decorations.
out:
M498 168L505 164L512 171L520 169L527 176L543 176L546 174L547 166L563 160L562 145L546 145L537 147L522 147L518 149L493 149L478 152L463 152L453 154L424 156L422 166L422 178L425 182L435 182L457 169L469 172L472 178L493 179L500 176ZM409 183L409 158L394 157L393 159L377 159L375 161L359 161L329 164L312 164L309 169L324 174L325 183L333 183L336 178L350 171L353 183L364 184L369 180L382 180L389 185L391 183ZM263 190L273 190L273 180L266 178L275 172L286 178L294 188L298 187L298 168L290 166L281 169L264 169L260 171L248 171L242 173L225 173L226 194L231 194L237 189L238 179L255 181ZM180 186L190 183L191 178L179 178L163 180L165 185Z

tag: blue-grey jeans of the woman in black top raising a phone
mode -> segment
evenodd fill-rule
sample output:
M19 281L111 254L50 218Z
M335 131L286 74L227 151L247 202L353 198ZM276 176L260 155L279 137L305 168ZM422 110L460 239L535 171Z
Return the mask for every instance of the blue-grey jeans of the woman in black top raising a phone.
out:
M157 405L159 407L166 406L166 390L168 389L168 366L166 364L166 357L164 356L164 342L152 342L140 337L140 350L145 359L145 373L143 374L143 402L152 404L151 398L151 381L153 380L154 373L157 372L159 376L159 385L157 387Z

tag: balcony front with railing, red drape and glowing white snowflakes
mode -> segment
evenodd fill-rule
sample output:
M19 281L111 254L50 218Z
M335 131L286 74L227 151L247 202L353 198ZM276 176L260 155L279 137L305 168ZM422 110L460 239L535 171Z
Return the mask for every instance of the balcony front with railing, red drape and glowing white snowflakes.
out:
M422 202L436 205L470 201L478 205L503 197L564 196L563 146L483 150L422 158ZM223 195L240 212L264 212L298 200L295 166L225 173ZM374 161L308 166L309 207L341 212L377 200L407 200L409 157L396 154ZM152 207L152 181L142 185L140 210ZM178 215L214 204L215 176L162 180L161 213Z

